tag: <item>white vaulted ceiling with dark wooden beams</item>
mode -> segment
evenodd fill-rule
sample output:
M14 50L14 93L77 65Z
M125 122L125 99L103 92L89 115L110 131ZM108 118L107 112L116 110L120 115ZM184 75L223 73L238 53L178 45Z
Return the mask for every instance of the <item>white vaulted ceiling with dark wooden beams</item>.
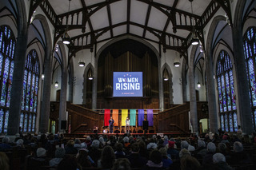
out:
M67 32L70 52L92 49L95 43L130 34L185 55L192 32L203 41L202 29L216 11L229 9L222 0L39 0L55 26L57 42ZM230 12L226 10L227 15ZM72 54L71 54L72 56Z

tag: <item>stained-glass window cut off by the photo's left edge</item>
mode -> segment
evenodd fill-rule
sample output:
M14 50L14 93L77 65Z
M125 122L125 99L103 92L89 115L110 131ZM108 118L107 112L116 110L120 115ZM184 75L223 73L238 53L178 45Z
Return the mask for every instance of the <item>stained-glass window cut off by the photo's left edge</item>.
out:
M0 26L0 133L7 132L8 127L15 44L10 27Z

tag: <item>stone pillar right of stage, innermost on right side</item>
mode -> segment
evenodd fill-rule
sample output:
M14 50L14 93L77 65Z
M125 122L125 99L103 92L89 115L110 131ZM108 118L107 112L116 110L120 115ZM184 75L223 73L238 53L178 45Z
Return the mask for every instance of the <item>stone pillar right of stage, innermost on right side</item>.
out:
M190 78L190 113L193 132L198 133L198 108L194 86L194 57L190 58L189 78Z

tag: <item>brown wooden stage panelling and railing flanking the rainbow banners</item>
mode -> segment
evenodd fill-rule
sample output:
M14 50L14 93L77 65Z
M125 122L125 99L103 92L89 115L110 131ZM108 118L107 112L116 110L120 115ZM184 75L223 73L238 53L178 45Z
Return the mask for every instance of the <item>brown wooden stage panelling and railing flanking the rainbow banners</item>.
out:
M202 113L202 105L206 105L206 102L198 102L198 120L203 117L208 117ZM104 126L104 113L103 109L95 112L90 109L86 109L80 105L73 105L67 102L67 111L69 113L69 120L71 124L72 133L92 133L94 128L98 127L98 132L102 132L108 127ZM138 109L137 109L138 110ZM174 106L171 109L167 109L160 112L159 109L154 109L154 126L149 127L150 133L190 133L189 128L189 116L190 103L186 102L183 105ZM144 113L146 118L146 109ZM138 126L138 113L136 114L136 126L130 127L130 131L134 133L142 132L142 127ZM124 132L125 127L121 125L121 109L119 110L118 126L114 127L114 132Z

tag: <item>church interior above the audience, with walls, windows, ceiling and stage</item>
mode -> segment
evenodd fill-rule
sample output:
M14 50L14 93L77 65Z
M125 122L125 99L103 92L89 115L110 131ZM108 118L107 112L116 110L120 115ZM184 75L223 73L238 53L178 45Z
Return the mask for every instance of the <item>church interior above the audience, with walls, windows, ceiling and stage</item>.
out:
M2 136L100 133L110 116L117 133L127 116L134 133L144 119L155 134L256 129L253 0L5 0L0 9ZM137 78L116 87L115 73L140 73L140 93Z

